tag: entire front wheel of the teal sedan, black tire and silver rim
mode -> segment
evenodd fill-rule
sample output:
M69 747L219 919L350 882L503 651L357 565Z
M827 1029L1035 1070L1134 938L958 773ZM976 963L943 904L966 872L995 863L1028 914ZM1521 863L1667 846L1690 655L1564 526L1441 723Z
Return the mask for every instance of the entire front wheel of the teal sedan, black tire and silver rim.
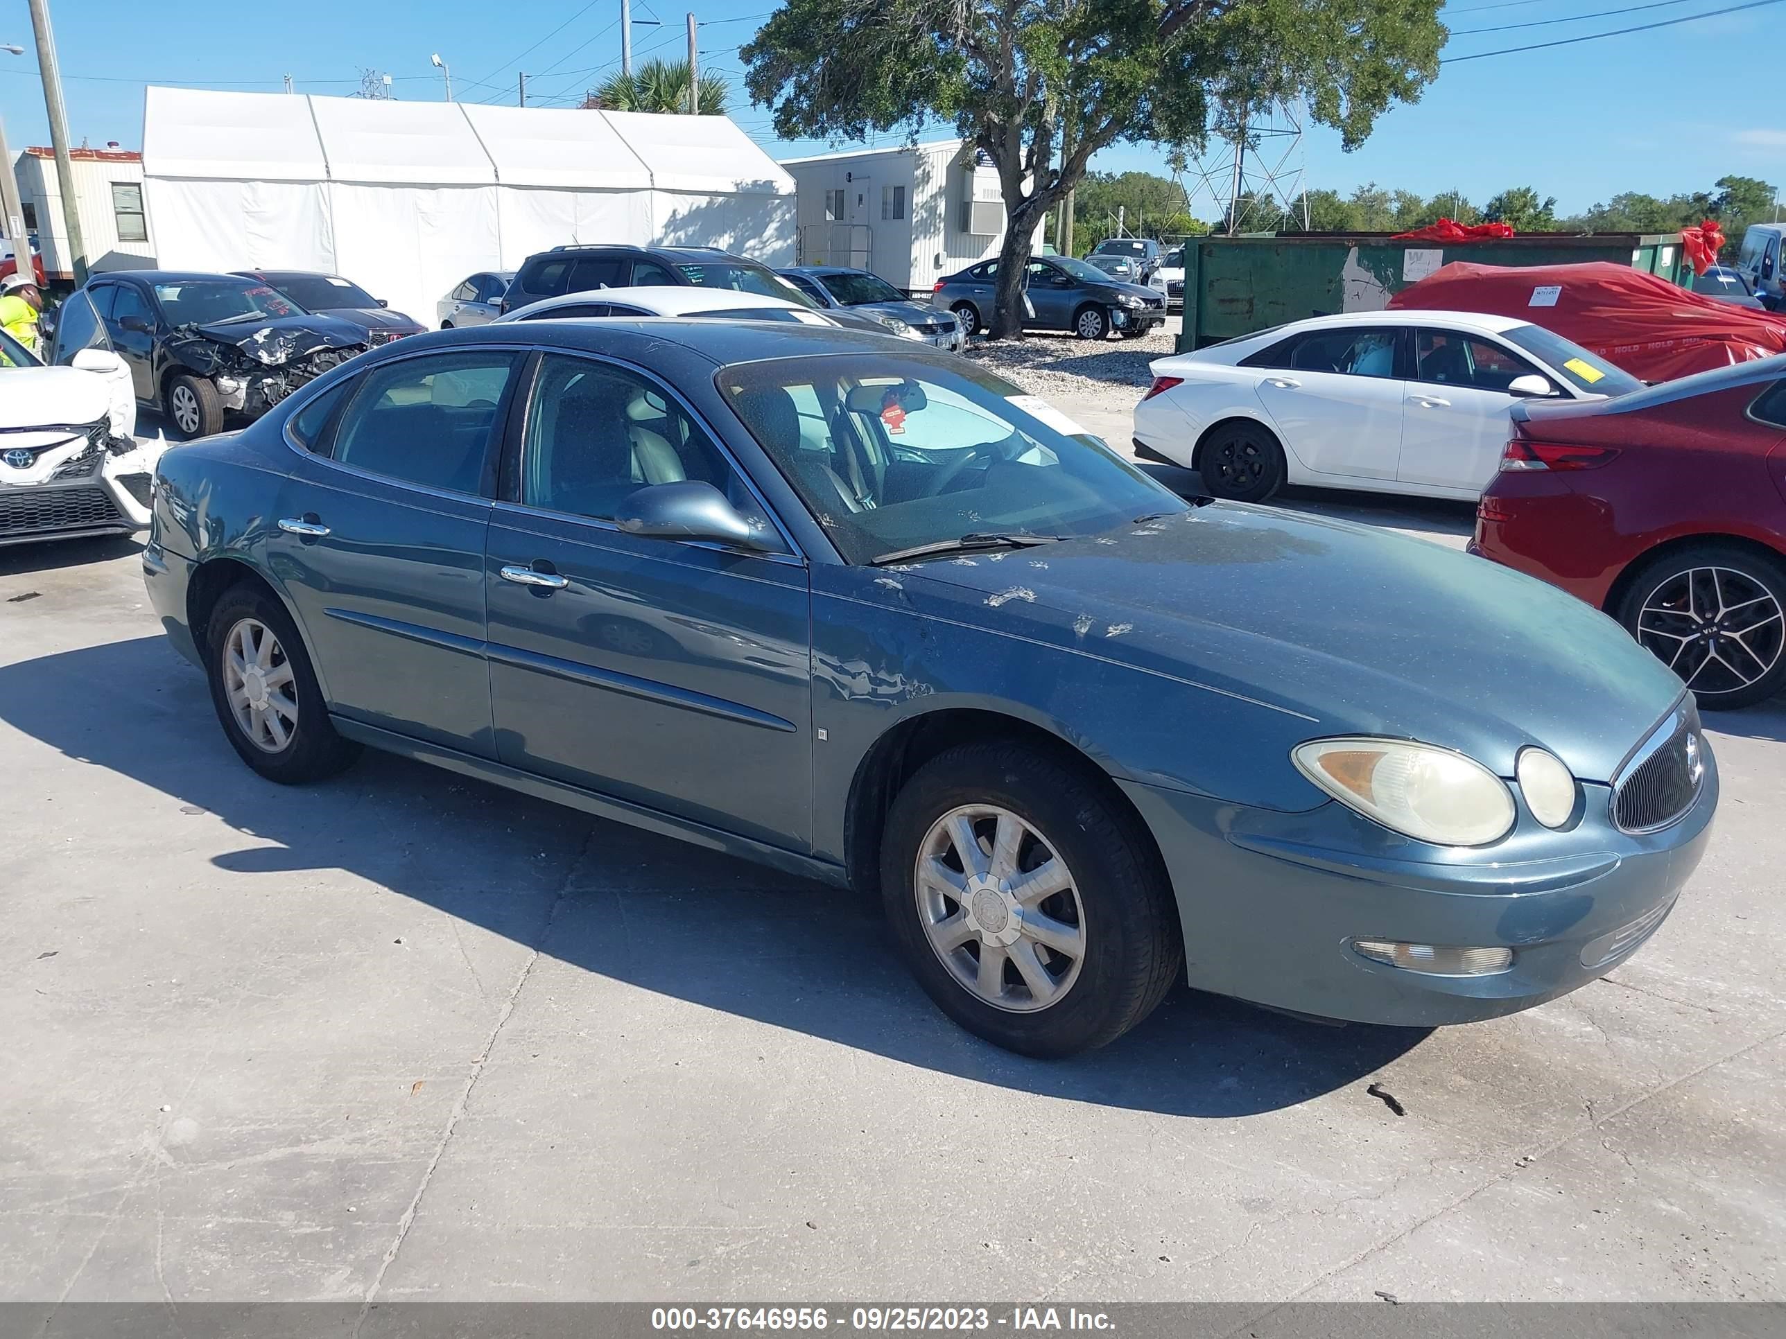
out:
M956 819L975 834L986 880L998 871L988 846L1013 823L1013 873L970 889L961 877L968 862L952 836L961 830ZM920 880L920 859L941 861L948 889L963 900L936 878ZM1070 882L1029 903L1041 916L1025 921L1011 887L1048 861ZM888 812L880 896L907 966L936 1005L968 1032L1022 1055L1077 1055L1114 1041L1184 971L1172 891L1139 821L1082 771L1025 744L959 744L913 773ZM1029 925L1048 937L1032 937ZM945 946L932 936L957 943ZM1056 943L1077 944L1079 955ZM979 984L988 952L1000 955L991 987ZM1038 986L1048 998L1031 987L1036 973L1047 977Z

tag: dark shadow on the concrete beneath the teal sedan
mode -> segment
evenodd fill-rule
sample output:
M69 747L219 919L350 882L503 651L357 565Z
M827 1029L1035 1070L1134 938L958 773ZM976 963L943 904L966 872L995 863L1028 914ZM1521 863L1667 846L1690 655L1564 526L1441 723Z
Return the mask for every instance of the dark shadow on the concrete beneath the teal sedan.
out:
M1100 1052L1027 1060L943 1018L861 894L375 752L321 786L273 786L239 762L202 675L161 637L0 666L0 719L161 791L170 823L223 819L245 841L213 864L257 889L264 875L341 869L586 971L988 1084L1245 1116L1348 1085L1425 1037L1179 987ZM527 857L489 855L493 834Z

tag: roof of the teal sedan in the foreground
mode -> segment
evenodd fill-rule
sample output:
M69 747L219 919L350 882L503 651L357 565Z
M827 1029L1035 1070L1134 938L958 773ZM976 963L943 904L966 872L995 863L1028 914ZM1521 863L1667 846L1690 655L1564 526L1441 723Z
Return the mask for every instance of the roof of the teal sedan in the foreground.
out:
M622 289L598 289L620 293ZM654 289L661 291L661 289ZM904 353L918 359L954 359L927 345L893 339L868 330L847 330L836 325L804 325L791 321L702 321L661 316L609 318L602 321L491 321L464 330L434 330L411 336L384 348L420 350L429 345L454 348L475 343L534 345L547 341L563 348L580 348L591 353L611 353L632 362L652 362L652 346L664 341L680 345L714 366L732 362L766 362L770 359L823 357L832 353ZM373 350L379 357L384 348ZM366 357L366 355L363 355Z

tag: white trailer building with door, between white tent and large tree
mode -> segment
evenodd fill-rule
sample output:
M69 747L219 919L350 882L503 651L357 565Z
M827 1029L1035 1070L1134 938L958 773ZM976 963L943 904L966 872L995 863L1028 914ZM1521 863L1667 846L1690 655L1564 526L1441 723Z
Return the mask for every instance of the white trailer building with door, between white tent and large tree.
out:
M929 296L938 279L997 255L1004 239L998 171L961 139L780 166L798 186L800 264L873 270Z

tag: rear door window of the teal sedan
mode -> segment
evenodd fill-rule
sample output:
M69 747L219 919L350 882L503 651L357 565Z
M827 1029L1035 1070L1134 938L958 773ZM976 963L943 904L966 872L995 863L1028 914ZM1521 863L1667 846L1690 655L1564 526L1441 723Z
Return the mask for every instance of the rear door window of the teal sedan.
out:
M518 353L479 350L386 362L359 377L334 459L405 484L489 495L484 461Z

